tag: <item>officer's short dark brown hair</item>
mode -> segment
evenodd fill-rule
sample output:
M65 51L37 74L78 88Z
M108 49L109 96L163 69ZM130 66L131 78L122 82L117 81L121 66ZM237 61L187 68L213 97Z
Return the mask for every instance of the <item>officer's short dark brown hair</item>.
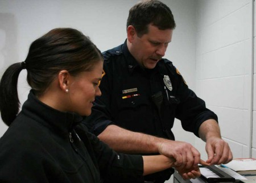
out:
M152 24L160 30L174 30L176 27L172 11L158 0L140 1L129 10L126 30L128 26L134 26L138 36L142 36L147 34L148 24Z

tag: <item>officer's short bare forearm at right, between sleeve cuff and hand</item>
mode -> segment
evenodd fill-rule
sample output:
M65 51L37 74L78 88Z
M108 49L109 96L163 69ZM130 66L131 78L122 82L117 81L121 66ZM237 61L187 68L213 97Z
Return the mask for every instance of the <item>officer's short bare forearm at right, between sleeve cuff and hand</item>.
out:
M206 142L209 137L221 138L220 127L216 120L208 119L202 123L199 128L199 136L204 142Z

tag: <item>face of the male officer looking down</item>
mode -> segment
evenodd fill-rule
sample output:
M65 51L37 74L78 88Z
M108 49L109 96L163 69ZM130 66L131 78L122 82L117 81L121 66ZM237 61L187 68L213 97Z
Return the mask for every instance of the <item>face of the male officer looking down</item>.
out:
M131 55L144 68L153 69L164 54L172 39L173 30L159 30L158 27L148 26L148 33L138 37L134 31L134 37L130 39Z

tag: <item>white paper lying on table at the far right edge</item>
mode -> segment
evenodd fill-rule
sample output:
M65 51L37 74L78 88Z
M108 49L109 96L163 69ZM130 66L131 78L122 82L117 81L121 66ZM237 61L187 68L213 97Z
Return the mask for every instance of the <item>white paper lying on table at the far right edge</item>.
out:
M228 164L225 164L225 166L235 171L256 170L256 159L234 159L230 161Z

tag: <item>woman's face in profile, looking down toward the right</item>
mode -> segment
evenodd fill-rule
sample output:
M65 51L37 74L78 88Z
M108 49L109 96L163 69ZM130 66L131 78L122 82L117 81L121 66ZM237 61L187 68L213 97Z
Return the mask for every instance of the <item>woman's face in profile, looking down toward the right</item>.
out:
M98 61L91 71L71 77L71 85L68 87L68 111L82 116L89 116L92 113L95 97L101 95L98 82L101 80L102 71L103 62Z

